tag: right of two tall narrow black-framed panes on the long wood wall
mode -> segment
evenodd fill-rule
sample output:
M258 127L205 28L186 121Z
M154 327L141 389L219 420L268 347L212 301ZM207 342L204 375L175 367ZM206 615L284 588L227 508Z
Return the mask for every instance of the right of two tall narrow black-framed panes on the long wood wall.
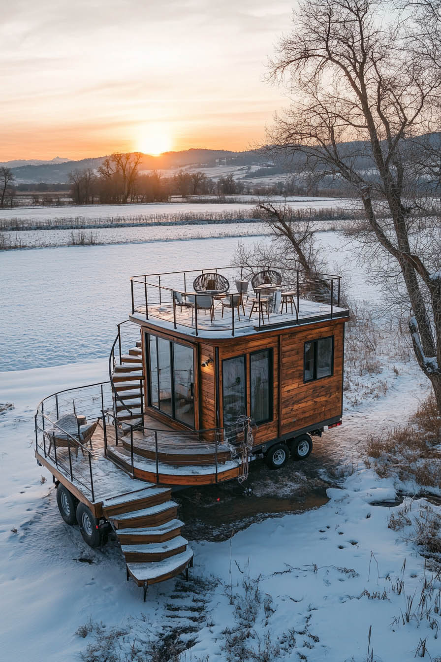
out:
M272 350L250 354L251 418L272 420Z

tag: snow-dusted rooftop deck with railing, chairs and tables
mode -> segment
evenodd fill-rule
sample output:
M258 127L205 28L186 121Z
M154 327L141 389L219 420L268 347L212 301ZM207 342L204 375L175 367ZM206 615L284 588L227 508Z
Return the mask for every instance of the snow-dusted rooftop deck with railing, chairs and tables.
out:
M253 287L253 275L259 272L277 273L279 278ZM202 275L211 282L208 274L224 277L223 291L196 287L194 281ZM132 319L205 338L253 334L347 315L340 305L341 277L306 278L297 269L278 273L257 265L145 274L131 278L131 289Z

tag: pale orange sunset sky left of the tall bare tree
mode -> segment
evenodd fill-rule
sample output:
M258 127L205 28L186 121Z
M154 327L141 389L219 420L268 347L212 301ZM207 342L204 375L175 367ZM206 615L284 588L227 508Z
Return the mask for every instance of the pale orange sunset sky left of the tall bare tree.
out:
M243 150L292 0L0 0L0 161Z

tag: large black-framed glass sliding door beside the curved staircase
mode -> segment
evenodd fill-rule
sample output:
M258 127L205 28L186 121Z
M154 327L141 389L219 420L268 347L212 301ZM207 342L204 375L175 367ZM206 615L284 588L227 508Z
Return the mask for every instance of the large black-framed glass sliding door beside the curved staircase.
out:
M149 347L149 404L194 428L193 349L151 335L146 336L146 343Z

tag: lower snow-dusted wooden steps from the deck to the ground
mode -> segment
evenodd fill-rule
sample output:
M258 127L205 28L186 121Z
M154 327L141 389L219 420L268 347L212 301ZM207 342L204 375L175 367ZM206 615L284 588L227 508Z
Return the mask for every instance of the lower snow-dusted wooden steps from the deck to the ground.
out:
M102 512L114 529L126 559L127 580L147 588L182 571L188 577L193 552L180 535L177 503L171 489L146 483L144 489L102 502Z

